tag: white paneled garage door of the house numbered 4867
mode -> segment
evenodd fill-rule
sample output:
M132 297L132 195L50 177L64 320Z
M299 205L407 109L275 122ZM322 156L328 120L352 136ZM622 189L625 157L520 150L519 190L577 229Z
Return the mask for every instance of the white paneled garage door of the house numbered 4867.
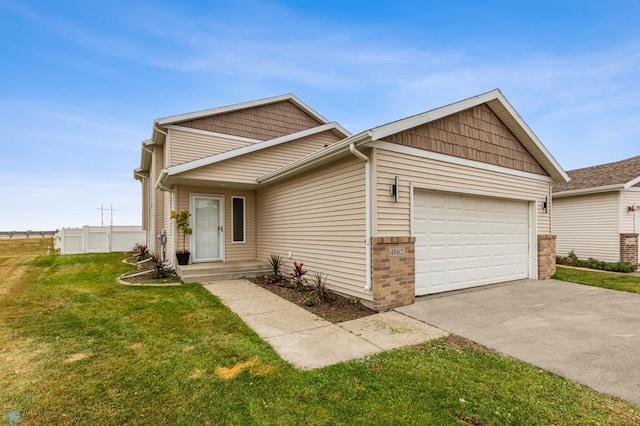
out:
M416 295L528 277L527 202L416 191Z

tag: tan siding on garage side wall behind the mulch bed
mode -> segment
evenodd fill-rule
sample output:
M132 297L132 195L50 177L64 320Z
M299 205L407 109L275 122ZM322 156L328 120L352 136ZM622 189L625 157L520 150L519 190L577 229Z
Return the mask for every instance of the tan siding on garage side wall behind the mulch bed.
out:
M365 166L349 157L259 189L258 258L270 254L329 274L334 290L371 300L365 286Z

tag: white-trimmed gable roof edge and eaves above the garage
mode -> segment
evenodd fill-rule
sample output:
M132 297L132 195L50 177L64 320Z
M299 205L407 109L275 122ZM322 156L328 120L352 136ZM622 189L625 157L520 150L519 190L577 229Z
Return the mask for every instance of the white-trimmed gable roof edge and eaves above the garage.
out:
M531 153L533 158L542 166L554 182L567 182L569 176L562 169L560 164L533 133L525 121L504 97L499 89L474 96L459 102L445 105L421 114L407 117L401 120L365 130L338 143L308 155L287 166L275 170L258 179L259 182L271 182L293 176L307 168L315 167L319 164L327 163L332 159L348 155L350 145L360 146L380 141L391 135L403 132L414 127L422 126L426 123L439 120L443 117L456 114L458 112L486 104L505 126L513 133L522 145Z

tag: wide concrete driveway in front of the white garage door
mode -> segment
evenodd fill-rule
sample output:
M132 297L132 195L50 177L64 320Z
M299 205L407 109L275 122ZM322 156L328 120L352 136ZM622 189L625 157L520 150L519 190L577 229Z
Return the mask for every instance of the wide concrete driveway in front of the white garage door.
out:
M640 406L640 294L523 280L396 310Z

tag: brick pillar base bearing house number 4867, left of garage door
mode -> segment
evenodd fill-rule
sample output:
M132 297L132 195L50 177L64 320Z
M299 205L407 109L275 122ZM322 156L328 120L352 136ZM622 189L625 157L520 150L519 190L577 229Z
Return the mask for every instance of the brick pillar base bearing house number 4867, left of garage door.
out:
M415 237L373 237L373 309L410 305L416 297Z

